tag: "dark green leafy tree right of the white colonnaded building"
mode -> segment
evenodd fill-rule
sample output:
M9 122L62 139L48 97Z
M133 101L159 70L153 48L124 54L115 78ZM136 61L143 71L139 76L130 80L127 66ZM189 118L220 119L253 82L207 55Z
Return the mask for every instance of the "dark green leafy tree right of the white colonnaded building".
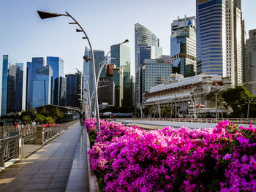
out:
M227 104L226 107L231 107L233 112L230 113L232 118L246 118L247 106L252 95L244 86L236 86L223 91L222 98Z

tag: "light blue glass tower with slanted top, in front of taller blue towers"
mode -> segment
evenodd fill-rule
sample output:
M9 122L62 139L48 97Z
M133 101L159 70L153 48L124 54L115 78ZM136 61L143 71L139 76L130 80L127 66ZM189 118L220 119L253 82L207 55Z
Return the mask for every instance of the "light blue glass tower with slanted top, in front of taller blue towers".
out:
M53 69L43 66L37 69L33 79L32 107L40 107L50 104L50 96L53 90Z

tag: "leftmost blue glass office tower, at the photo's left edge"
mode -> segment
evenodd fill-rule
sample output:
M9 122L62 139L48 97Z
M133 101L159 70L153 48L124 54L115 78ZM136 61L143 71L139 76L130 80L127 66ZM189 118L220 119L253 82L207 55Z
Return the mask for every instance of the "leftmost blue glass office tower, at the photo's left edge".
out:
M1 71L1 115L25 110L23 63L17 63L10 55L3 55Z

